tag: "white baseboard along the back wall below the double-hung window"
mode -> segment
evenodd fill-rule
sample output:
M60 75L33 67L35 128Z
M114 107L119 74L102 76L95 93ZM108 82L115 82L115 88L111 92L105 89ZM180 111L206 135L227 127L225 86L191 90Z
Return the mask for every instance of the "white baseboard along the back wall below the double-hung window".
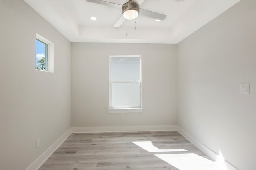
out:
M176 131L176 125L72 127L72 131L73 131L73 133L132 132L132 131Z

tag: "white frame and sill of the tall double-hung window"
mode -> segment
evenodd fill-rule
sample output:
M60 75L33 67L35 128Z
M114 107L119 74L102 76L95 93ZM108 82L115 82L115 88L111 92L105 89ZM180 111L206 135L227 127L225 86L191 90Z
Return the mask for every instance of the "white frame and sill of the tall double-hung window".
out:
M140 80L134 81L112 81L111 80L111 57L139 57L140 58ZM141 77L141 55L109 55L109 109L108 113L138 113L142 112L142 77ZM139 106L112 106L112 83L139 83Z

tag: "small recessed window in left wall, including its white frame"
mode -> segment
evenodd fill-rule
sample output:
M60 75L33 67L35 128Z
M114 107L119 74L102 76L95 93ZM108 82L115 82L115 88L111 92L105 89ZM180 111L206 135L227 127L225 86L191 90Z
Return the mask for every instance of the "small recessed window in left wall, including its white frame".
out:
M36 34L36 70L53 72L54 44Z

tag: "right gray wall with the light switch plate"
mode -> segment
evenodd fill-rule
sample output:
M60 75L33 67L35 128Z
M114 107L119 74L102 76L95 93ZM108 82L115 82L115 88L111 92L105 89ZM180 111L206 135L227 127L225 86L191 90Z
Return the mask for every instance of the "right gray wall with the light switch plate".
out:
M238 2L177 47L178 125L239 170L256 169L255 3Z

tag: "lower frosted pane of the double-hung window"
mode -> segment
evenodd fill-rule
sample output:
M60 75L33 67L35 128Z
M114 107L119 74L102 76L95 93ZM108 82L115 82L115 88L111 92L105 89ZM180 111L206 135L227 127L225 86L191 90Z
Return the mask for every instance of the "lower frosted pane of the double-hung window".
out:
M112 82L112 106L140 106L139 83Z

